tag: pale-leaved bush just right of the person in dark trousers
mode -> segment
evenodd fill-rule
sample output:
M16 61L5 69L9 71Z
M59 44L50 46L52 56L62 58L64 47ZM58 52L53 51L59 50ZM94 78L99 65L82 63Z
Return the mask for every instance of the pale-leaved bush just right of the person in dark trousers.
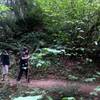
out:
M42 48L37 53L33 53L30 58L31 65L35 67L48 67L51 64L51 61L46 59L49 57L55 57L58 54L62 54L64 50L57 50L51 48ZM47 57L46 57L47 56Z

